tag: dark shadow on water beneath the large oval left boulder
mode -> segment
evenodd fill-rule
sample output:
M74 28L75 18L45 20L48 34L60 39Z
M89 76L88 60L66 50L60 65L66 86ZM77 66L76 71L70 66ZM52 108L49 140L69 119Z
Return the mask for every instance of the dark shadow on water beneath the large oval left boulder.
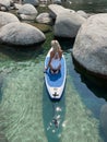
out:
M0 46L0 52L13 59L14 61L27 60L37 57L43 52L44 49L40 45L29 46L29 47L20 47L20 46Z

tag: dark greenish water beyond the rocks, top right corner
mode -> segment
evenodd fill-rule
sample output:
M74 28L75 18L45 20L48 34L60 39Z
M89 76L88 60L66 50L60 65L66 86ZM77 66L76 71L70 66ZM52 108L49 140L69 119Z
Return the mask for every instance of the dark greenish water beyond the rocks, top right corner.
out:
M68 0L68 2L63 2L63 5L75 11L84 10L87 13L107 13L106 0Z

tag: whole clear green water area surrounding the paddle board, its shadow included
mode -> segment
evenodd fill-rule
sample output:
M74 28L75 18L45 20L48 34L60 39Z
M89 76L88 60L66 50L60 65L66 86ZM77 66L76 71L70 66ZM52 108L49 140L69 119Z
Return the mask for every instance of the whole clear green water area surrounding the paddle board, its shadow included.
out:
M0 54L0 133L8 142L104 142L99 114L105 99L82 82L69 49L63 96L49 99L43 73L47 50L27 60L20 60L19 51Z

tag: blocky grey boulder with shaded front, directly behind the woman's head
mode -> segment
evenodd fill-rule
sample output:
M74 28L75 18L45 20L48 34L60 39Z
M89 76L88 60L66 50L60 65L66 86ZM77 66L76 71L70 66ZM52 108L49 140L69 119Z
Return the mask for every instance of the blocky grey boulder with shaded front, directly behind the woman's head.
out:
M58 37L74 38L79 28L86 20L72 12L63 12L57 15L54 34Z

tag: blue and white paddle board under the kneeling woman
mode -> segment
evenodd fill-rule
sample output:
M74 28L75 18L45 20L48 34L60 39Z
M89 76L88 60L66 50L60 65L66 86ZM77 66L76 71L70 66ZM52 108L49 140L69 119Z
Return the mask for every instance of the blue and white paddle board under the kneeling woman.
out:
M48 51L46 59L45 59L45 67L47 67L50 58L50 51L52 48ZM60 99L64 90L66 85L66 76L67 76L67 66L66 66L66 59L62 55L61 58L61 69L57 74L51 74L50 70L48 70L45 73L45 83L48 91L48 94L51 99Z

